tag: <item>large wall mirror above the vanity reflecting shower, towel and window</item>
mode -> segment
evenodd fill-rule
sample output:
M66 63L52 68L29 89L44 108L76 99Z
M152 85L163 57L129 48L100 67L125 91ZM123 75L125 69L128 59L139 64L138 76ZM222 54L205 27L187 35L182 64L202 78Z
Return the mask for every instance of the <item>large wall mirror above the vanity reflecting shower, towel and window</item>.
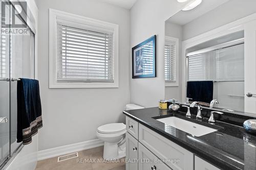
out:
M216 108L248 110L246 31L238 20L255 14L255 6L253 0L202 1L193 10L180 11L165 21L166 100L190 98L189 103L198 101L209 107L217 99ZM233 28L223 29L231 22L235 22Z

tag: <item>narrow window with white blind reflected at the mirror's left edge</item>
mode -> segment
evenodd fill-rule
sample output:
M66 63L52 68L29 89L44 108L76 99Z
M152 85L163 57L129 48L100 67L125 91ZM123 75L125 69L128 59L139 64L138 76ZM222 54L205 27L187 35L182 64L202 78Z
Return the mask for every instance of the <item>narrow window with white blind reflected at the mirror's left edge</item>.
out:
M165 37L164 80L165 86L178 86L179 39Z

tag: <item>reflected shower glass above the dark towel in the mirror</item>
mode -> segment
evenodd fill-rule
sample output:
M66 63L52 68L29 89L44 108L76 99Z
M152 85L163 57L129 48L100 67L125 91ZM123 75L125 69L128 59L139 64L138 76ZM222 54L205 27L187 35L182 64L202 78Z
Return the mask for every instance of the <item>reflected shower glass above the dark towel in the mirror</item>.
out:
M187 57L188 81L243 81L244 44Z

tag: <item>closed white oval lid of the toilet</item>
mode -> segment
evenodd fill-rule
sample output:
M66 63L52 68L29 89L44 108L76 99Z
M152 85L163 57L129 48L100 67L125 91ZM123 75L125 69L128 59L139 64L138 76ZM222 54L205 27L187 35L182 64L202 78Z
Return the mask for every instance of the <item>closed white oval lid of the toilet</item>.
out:
M99 133L113 134L125 131L125 125L123 123L106 124L98 127Z

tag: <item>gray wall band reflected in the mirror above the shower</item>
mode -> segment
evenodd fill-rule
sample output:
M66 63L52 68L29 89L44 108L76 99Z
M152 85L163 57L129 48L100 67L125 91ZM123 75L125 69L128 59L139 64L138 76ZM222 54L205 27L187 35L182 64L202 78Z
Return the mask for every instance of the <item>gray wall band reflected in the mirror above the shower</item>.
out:
M183 26L183 40L195 37L256 12L255 0L230 0ZM203 23L203 24L202 24Z

